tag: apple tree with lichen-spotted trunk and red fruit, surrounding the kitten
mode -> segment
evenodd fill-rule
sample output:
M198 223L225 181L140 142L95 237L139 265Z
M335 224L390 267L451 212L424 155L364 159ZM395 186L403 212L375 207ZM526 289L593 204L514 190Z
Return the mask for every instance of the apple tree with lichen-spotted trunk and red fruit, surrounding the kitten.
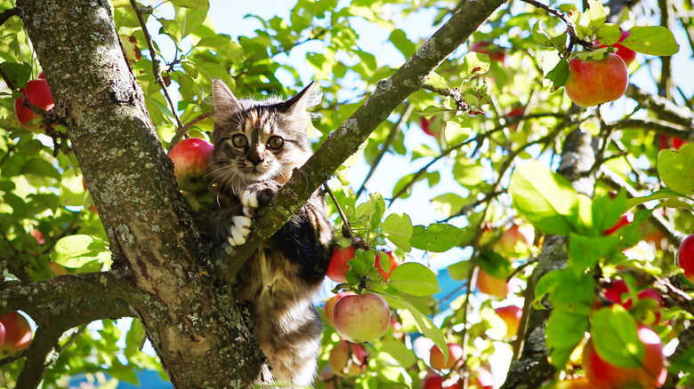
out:
M316 387L694 385L691 1L214 6L0 0L0 386L270 384L233 283L321 186ZM325 96L233 250L169 158L215 79Z

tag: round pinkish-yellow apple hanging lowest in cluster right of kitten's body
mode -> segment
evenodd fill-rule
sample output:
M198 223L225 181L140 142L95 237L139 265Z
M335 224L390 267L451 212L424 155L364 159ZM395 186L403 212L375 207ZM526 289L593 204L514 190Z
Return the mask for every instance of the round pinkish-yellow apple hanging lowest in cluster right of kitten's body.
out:
M383 337L391 323L391 308L373 293L344 296L333 310L335 330L353 343L370 342Z

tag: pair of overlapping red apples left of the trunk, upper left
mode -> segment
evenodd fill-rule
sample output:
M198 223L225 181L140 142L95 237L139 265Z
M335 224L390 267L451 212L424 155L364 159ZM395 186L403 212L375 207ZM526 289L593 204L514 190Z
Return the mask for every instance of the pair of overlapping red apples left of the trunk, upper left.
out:
M26 88L20 88L20 93L24 97L14 99L14 115L17 117L17 121L28 131L43 133L44 130L41 125L44 123L43 117L36 115L27 107L27 103L44 111L50 111L55 107L44 72L41 72L36 80L29 81Z

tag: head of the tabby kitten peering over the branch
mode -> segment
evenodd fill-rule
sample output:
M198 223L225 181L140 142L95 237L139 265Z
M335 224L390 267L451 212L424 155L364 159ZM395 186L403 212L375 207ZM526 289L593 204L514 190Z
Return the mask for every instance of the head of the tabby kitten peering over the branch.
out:
M284 184L312 153L307 133L320 91L313 83L292 99L237 99L220 80L213 83L214 150L210 171L222 191L240 193L254 182Z

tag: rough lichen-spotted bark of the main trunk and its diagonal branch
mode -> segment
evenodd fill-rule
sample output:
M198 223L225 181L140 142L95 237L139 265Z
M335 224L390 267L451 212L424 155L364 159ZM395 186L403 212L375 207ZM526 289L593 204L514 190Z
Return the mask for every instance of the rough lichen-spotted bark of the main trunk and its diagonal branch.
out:
M109 4L104 0L19 0L20 18L57 102L52 112L67 128L109 235L116 266L127 269L119 270L122 273L117 276L100 274L113 281L110 283L91 274L52 280L65 286L92 276L92 282L97 283L91 283L93 290L88 292L53 290L55 293L38 301L49 305L84 302L82 306L100 301L116 306L105 309L101 317L131 314L132 308L176 387L248 387L266 380L268 366L224 280L233 277L250 253L285 223L371 131L419 89L426 75L503 3L465 3L395 75L379 83L364 106L327 139L307 163L306 174L295 175L277 201L258 217L249 242L230 255L219 256L210 253L206 242L199 239L188 207L175 187L172 163L125 60ZM211 268L219 273L211 273ZM32 286L51 285L39 282ZM0 296L23 287L11 286ZM114 296L115 300L108 299ZM127 309L121 304L124 299L129 304ZM26 306L22 309L31 311ZM0 307L0 313L10 310L8 305ZM92 312L80 317L88 322L99 315ZM44 326L48 321L37 322ZM48 334L49 340L60 332L40 330ZM48 347L41 345L36 342L28 353L48 353L44 350ZM23 382L26 387L38 385L36 378Z

